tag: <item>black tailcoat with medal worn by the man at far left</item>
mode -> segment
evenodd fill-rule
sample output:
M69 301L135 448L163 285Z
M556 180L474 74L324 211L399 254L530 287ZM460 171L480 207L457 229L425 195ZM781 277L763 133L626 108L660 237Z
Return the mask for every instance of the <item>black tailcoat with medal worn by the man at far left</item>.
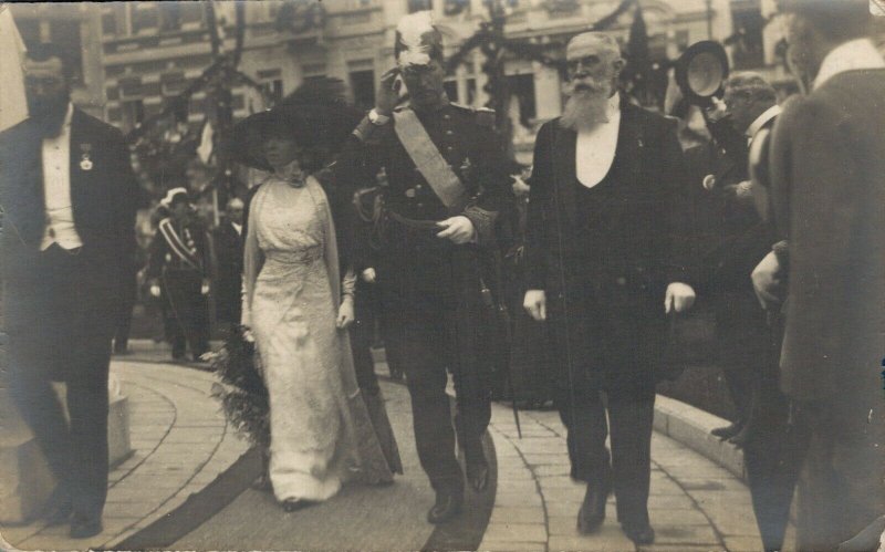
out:
M75 108L71 200L83 247L70 259L70 270L59 274L40 253L46 220L41 152L42 135L32 119L0 134L3 323L17 351L41 366L54 366L50 375L65 379L85 376L70 374L73 366L106 369L75 356L92 354L83 344L110 344L113 335L121 283L135 247L138 187L119 131ZM51 279L73 290L70 296L49 298Z

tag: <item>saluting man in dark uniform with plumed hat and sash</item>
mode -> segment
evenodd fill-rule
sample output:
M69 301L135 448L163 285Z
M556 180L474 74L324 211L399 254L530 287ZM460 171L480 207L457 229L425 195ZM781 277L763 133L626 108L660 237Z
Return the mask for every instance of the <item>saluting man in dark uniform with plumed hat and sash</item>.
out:
M385 344L406 372L421 467L436 491L431 523L452 518L464 499L455 435L467 479L488 486L482 435L490 418L486 358L492 310L483 303L480 265L510 177L492 131L494 114L448 101L441 34L429 12L404 18L395 46L398 67L382 79L376 107L354 131L339 159L339 183L371 181L385 167L382 248L375 269L385 316ZM400 81L402 77L402 81ZM399 105L405 84L408 105ZM452 431L446 371L455 377Z

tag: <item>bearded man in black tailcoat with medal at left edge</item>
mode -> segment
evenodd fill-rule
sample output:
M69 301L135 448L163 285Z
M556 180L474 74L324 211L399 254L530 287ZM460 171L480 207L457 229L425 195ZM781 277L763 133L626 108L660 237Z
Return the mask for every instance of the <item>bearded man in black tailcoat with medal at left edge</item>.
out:
M24 69L31 116L0 135L9 383L58 480L46 521L85 538L102 531L107 493L107 372L137 184L119 132L72 106L64 50L34 45ZM66 384L66 413L52 382Z

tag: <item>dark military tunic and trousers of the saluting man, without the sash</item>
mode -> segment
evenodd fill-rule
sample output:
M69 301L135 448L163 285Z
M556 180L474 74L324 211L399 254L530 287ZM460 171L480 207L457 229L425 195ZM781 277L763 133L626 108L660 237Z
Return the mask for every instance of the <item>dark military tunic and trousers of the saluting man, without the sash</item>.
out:
M458 394L456 429L468 455L476 455L490 417L487 351L492 311L481 299L481 264L490 244L494 211L509 195L509 164L491 129L493 113L447 104L417 113L430 139L473 199L462 213L477 228L479 243L456 246L436 237L438 228L413 221L438 221L454 213L442 205L396 136L395 122L367 122L340 157L340 185L362 183L381 167L387 173L386 208L376 228L379 251L357 264L374 267L381 289L386 346L404 362L412 395L415 438L421 466L435 488L458 486L446 369ZM429 226L429 225L426 225Z

